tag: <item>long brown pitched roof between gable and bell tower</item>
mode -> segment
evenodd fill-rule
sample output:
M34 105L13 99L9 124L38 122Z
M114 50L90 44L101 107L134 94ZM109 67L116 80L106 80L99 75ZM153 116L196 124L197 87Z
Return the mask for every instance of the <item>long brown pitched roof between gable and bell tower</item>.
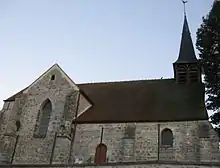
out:
M78 123L159 122L208 119L204 86L174 79L80 84L93 106Z

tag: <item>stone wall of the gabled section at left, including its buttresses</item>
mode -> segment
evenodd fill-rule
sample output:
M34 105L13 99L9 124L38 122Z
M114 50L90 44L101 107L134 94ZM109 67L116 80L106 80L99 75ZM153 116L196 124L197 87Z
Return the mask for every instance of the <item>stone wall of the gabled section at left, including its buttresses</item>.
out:
M0 152L7 153L9 161L15 164L67 163L78 98L78 87L58 65L51 67L14 101L5 102L1 112ZM83 112L90 104L81 99ZM45 100L52 103L52 112L46 136L41 137L36 133L36 125L40 124L38 118Z

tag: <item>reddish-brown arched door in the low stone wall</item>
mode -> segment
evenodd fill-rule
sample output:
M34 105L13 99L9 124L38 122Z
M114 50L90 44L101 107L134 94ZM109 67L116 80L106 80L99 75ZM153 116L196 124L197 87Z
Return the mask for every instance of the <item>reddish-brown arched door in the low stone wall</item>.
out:
M100 143L96 147L95 151L95 163L96 164L104 164L106 163L106 153L107 153L107 146L103 143Z

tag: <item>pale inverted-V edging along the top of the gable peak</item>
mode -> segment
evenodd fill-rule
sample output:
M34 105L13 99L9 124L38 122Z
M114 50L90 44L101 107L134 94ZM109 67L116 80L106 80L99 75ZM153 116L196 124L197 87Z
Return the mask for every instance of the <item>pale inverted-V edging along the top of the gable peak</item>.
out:
M72 79L61 69L61 67L56 63L52 67L50 67L46 72L44 72L39 78L37 78L31 85L29 85L25 90L23 90L23 93L27 93L32 86L34 86L39 80L43 79L44 76L46 76L48 73L50 73L52 70L57 69L60 71L61 75L66 78L66 80L69 82L69 84L76 90L79 90L77 85L72 81Z

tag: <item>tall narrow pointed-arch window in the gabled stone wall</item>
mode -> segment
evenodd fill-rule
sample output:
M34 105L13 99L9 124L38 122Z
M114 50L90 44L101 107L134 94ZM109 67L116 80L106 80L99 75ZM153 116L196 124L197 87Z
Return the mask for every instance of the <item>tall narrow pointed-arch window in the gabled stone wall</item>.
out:
M52 103L49 99L46 99L41 105L41 108L38 112L36 126L35 126L36 137L45 137L47 135L51 113L52 113Z

